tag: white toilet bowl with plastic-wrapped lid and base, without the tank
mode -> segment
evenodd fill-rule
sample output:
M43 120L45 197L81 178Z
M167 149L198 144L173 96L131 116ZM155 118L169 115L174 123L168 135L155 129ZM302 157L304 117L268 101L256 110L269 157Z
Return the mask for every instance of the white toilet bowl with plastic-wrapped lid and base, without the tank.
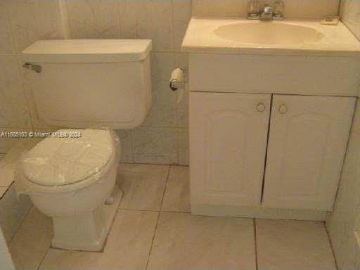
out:
M119 146L110 130L64 129L23 154L18 186L52 217L54 248L102 249L121 198L116 185ZM105 204L109 198L111 203Z

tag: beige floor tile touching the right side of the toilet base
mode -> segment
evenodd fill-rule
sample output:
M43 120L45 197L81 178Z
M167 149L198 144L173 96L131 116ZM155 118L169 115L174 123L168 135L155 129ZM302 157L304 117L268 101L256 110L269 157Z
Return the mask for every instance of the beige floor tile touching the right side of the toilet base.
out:
M169 166L120 164L117 183L124 192L121 209L160 210Z

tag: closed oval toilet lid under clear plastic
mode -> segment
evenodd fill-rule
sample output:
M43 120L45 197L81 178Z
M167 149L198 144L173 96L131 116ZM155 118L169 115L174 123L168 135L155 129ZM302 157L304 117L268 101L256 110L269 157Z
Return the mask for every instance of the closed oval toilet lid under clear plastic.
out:
M74 134L81 136L68 136ZM62 129L25 154L23 174L43 186L74 184L100 172L113 150L113 137L108 130Z

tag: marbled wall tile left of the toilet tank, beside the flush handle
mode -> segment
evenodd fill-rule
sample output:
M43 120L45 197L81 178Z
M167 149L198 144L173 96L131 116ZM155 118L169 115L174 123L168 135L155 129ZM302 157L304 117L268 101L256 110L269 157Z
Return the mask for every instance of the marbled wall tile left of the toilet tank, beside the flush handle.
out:
M31 127L16 56L0 56L0 124Z

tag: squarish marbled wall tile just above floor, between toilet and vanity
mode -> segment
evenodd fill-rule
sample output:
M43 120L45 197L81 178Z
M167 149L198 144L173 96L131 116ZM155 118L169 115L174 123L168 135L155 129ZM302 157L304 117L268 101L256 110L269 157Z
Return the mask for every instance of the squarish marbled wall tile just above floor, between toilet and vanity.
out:
M139 127L131 131L134 162L177 164L176 128Z

